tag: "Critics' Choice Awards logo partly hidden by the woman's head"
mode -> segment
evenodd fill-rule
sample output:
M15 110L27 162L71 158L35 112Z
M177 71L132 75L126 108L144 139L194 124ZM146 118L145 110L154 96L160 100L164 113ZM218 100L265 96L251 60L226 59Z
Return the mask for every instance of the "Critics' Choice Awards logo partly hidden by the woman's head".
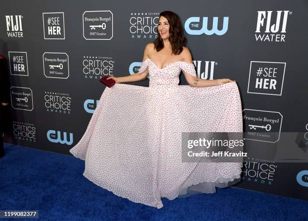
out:
M130 13L129 32L131 38L156 39L160 13Z

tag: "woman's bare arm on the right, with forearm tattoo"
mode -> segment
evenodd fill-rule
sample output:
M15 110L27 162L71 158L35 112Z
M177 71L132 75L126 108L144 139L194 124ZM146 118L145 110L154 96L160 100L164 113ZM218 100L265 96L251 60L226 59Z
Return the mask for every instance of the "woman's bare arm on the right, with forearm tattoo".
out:
M184 47L183 57L184 57L184 62L192 63L191 53L190 53L190 51L187 47ZM185 75L187 83L191 87L210 87L210 86L217 86L217 85L221 85L221 84L225 84L225 83L229 83L229 82L235 82L235 81L232 81L228 78L206 80L206 79L201 79L201 78L192 76L192 75L186 73L185 71L183 71L183 73Z

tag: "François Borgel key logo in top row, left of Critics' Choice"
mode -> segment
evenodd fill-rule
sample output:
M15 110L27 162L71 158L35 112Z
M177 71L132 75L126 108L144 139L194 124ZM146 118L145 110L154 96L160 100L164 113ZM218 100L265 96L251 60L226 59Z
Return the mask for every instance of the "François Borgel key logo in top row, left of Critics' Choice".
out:
M113 37L111 11L86 11L83 14L83 30L86 40L110 40Z

